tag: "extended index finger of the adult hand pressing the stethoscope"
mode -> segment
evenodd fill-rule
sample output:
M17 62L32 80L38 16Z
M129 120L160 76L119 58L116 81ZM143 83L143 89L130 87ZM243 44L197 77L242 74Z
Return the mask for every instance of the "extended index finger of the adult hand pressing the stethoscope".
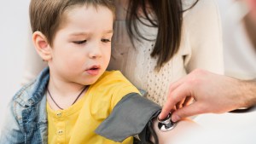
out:
M190 85L181 84L177 89L174 89L167 98L166 104L162 108L162 112L160 112L160 119L166 118L169 112L179 101L182 101L187 95L191 96L190 93Z

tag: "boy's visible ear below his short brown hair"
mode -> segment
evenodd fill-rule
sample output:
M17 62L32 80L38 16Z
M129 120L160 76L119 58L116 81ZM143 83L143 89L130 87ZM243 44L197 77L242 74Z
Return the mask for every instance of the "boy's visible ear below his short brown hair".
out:
M34 43L38 55L40 55L44 61L51 60L51 47L42 32L34 32L32 34L32 42Z

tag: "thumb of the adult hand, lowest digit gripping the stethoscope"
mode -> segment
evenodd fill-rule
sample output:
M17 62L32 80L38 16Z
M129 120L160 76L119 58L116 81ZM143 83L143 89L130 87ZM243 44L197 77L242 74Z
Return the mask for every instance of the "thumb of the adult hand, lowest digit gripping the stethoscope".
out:
M172 121L177 122L181 118L187 118L202 113L202 108L195 102L187 107L182 107L177 109L177 111L172 112Z

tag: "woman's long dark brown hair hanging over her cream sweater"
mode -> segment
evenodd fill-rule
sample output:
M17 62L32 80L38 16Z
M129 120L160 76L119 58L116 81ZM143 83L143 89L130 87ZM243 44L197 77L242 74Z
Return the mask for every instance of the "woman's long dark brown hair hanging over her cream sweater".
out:
M194 7L198 0L190 7ZM149 10L148 10L149 7ZM190 9L189 8L189 9ZM142 11L149 24L140 20L138 11ZM187 9L186 9L187 10ZM151 57L158 57L156 70L160 70L168 60L171 60L179 49L182 35L183 24L182 0L130 0L128 13L126 15L126 26L131 41L154 41L154 49ZM148 15L153 11L155 18ZM158 33L156 39L144 37L137 27L140 22L144 26L157 27Z

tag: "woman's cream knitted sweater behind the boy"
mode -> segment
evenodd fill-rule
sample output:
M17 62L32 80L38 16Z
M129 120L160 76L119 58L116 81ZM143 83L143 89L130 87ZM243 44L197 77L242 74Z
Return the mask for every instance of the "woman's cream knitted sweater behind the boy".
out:
M184 7L191 3L186 0ZM190 1L191 2L191 1ZM112 60L108 69L120 70L138 89L148 91L148 98L160 105L166 101L169 85L182 78L195 68L202 68L211 72L222 74L224 72L223 49L218 7L214 0L200 0L193 9L183 14L183 35L180 49L172 60L161 68L160 72L154 71L156 59L150 57L154 42L131 41L125 27L125 9L118 6L117 20L114 24ZM155 38L157 29L141 25L145 36ZM30 49L31 51L31 49ZM42 60L38 67L32 67L35 57L30 52L25 68L25 80L34 78L42 68ZM34 53L34 50L33 50ZM37 70L35 70L35 68Z

